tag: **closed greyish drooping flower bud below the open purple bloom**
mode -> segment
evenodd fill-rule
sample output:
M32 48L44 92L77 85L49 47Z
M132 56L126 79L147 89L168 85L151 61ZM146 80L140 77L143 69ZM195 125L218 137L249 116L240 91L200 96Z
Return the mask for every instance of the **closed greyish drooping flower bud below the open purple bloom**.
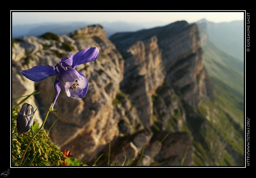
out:
M17 135L20 133L22 136L25 132L28 132L32 126L35 118L34 107L31 104L24 103L20 112L17 115Z

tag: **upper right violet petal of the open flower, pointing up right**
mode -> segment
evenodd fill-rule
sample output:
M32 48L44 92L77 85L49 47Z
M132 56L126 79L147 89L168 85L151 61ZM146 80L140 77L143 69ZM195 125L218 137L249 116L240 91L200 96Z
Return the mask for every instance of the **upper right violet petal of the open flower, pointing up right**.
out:
M95 61L99 56L99 49L97 47L86 48L82 51L77 52L73 57L72 68L77 66Z

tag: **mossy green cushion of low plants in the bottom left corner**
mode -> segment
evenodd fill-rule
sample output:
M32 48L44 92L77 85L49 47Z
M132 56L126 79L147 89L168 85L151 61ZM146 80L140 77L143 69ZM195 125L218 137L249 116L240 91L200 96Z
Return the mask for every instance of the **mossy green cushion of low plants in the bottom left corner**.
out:
M24 149L32 136L30 131L23 137L20 134L17 135L17 113L17 108L12 111L12 166L18 166ZM67 157L59 147L51 141L48 132L42 129L28 148L22 166L62 166L66 159Z

